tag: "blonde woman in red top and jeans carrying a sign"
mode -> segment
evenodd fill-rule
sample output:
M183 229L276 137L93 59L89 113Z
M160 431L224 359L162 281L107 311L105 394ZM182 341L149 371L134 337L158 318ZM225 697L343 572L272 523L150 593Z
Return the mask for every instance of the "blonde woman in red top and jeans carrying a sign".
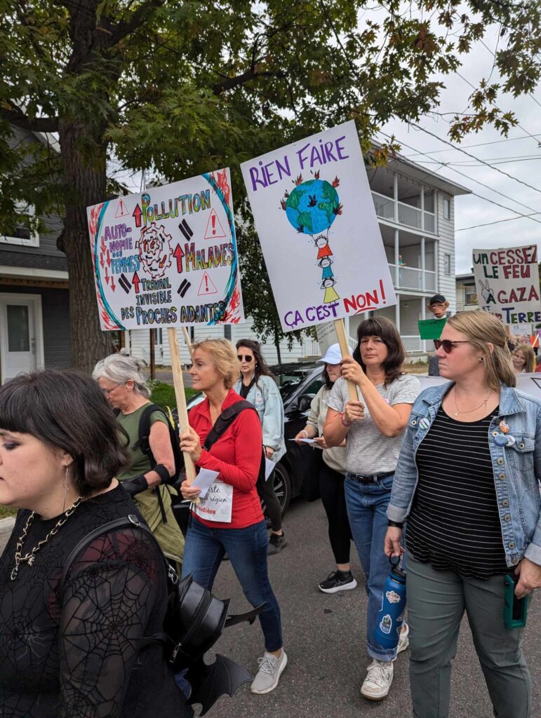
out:
M251 692L269 693L278 685L287 656L282 648L279 605L267 573L267 526L256 481L262 460L262 427L257 412L246 409L236 417L207 451L205 439L224 409L242 401L231 388L239 378L236 349L225 339L211 339L193 345L190 376L193 388L206 398L191 409L190 432L181 434L180 448L188 452L200 469L218 472L205 499L193 504L184 549L182 575L193 574L208 589L227 553L252 606L265 604L259 615L265 652ZM187 481L182 496L193 500L200 489Z

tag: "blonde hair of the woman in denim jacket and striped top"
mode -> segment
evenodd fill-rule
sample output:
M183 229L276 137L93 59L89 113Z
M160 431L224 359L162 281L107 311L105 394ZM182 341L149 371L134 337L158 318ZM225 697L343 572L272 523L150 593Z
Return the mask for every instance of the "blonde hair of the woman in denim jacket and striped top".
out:
M501 322L489 312L457 312L447 323L468 337L468 342L483 353L486 383L494 391L500 384L517 385L517 375L507 347L507 337ZM494 345L491 351L489 343Z

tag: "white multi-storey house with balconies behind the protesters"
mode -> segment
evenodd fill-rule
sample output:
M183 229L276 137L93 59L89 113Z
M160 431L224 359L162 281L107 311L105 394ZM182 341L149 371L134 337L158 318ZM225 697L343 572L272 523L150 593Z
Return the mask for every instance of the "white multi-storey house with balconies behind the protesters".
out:
M427 346L420 339L417 321L427 318L427 299L436 293L444 294L450 311L456 312L454 200L470 190L400 155L390 159L386 167L369 168L368 174L399 303L350 317L346 330L355 337L359 322L369 314L389 317L399 328L408 353L423 353ZM154 332L156 363L170 365L167 332ZM225 336L233 342L257 338L249 319L244 325L193 327L191 335L195 339ZM180 332L179 337L182 360L188 362ZM134 355L148 360L149 332L126 332L126 346ZM305 339L295 342L291 350L287 342L282 342L280 353L282 361L314 357L319 355L318 342ZM277 351L272 343L264 345L264 355L269 363L276 363Z

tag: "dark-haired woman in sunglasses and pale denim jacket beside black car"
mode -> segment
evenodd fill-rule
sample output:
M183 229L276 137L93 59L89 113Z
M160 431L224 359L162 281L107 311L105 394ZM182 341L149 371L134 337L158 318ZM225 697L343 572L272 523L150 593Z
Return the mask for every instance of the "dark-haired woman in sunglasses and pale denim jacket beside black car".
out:
M241 378L233 387L236 393L256 408L263 429L263 446L267 459L279 462L285 454L284 441L284 404L282 397L264 360L261 345L251 339L236 342L237 358L241 363ZM259 498L267 508L271 522L269 555L278 554L286 546L282 529L282 508L276 493L272 477L263 485L257 486Z

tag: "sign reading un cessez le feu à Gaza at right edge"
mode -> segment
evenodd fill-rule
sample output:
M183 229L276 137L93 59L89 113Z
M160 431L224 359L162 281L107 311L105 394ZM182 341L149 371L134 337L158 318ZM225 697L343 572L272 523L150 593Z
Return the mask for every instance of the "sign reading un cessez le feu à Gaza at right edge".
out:
M479 306L505 325L541 322L537 246L474 249Z

